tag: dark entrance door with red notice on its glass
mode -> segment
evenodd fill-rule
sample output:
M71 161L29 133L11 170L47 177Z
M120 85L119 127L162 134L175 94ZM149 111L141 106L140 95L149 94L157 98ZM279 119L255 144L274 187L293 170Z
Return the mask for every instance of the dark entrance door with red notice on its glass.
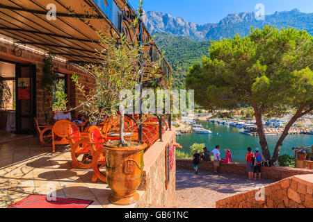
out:
M16 133L34 134L36 117L36 66L15 66Z

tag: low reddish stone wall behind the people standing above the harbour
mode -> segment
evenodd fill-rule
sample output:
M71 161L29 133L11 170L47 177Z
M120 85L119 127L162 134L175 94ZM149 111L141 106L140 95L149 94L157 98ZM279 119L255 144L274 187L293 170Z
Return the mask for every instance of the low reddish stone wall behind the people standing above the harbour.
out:
M176 160L176 167L182 169L192 169L192 160ZM201 161L199 164L200 171L214 171L213 162ZM218 167L218 172L227 174L237 174L237 175L247 175L246 164L238 163L220 163ZM262 167L262 178L270 180L282 180L290 176L300 175L300 174L313 174L313 169L300 169L300 168L290 168L290 167Z

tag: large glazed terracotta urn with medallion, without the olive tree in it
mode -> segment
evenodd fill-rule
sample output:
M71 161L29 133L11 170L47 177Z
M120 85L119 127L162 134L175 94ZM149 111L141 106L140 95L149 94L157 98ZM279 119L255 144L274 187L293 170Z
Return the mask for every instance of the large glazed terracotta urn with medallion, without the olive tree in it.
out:
M136 203L139 194L136 189L143 178L143 151L147 147L144 142L136 147L106 148L106 180L113 194L110 202L115 205Z

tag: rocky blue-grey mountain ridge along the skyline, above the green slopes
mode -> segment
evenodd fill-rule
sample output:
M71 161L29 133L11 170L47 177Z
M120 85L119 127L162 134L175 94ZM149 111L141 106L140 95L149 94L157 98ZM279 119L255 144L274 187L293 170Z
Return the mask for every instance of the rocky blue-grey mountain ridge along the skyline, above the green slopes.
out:
M182 17L172 17L163 12L148 11L143 15L143 22L152 34L183 35L193 40L221 40L233 37L236 33L244 36L248 35L250 26L262 28L268 24L278 28L293 26L313 34L313 13L300 12L298 9L275 12L273 15L266 15L264 20L257 20L255 12L233 13L218 23L204 25L187 22Z

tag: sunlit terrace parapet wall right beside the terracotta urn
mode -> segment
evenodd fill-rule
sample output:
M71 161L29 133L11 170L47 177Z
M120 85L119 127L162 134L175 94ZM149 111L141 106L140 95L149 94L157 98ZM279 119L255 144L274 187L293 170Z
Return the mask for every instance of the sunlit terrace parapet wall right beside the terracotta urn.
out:
M163 142L155 142L143 157L143 181L139 190L145 194L138 201L136 207L172 206L175 204L175 148L174 163L170 171L170 180L166 189L166 147L175 143L175 130L163 134Z

